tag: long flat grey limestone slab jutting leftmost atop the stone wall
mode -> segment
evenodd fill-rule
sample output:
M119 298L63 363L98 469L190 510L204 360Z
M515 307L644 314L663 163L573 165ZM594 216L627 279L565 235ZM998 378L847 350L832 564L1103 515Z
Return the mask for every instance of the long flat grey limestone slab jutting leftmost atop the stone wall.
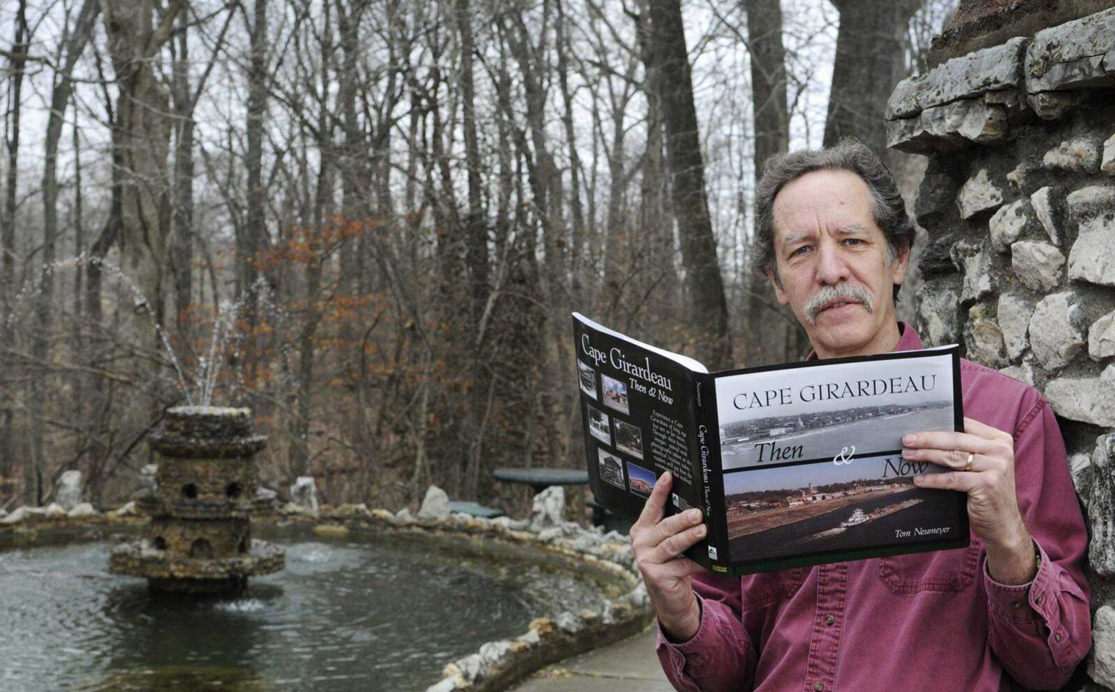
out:
M1020 86L1026 43L1027 39L1012 38L948 60L923 76L903 79L886 101L886 119L909 118L931 106Z

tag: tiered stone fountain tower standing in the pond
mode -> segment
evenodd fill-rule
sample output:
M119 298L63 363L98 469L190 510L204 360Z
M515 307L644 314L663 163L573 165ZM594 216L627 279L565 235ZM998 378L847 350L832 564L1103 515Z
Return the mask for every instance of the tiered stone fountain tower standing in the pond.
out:
M252 460L265 444L251 433L249 409L169 409L152 436L158 486L136 501L149 537L117 546L110 571L146 577L155 591L222 593L282 569L281 549L252 540L252 511L272 501L256 497Z

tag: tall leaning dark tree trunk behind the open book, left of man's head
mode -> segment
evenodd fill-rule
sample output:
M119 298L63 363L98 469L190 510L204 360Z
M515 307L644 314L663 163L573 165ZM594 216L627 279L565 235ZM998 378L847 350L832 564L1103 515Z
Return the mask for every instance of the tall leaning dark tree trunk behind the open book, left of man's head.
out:
M681 262L694 306L695 354L708 368L731 364L728 306L716 256L716 236L705 191L705 162L697 131L692 78L681 22L680 0L652 0L650 43L659 57L666 156L673 184L673 213L681 238Z

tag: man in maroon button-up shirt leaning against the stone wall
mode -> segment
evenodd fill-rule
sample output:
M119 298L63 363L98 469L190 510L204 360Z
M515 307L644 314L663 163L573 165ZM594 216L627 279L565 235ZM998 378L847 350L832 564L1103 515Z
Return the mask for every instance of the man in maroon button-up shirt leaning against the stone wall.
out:
M913 238L886 167L844 140L774 157L756 198L757 264L816 358L922 348L894 295ZM814 357L811 354L811 358ZM914 477L968 495L971 546L714 576L681 553L700 511L663 517L663 475L631 528L678 690L1056 689L1090 647L1087 536L1065 446L1031 387L961 361L964 432L903 439Z

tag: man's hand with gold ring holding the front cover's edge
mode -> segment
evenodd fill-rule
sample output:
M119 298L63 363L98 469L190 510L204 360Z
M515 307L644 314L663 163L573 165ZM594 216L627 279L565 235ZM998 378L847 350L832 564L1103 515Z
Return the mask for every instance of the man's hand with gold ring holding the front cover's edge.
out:
M902 457L952 469L914 476L913 483L967 493L968 519L987 544L991 578L1025 584L1034 578L1037 564L1015 494L1015 440L1009 432L971 418L964 418L964 430L908 435L902 438Z

